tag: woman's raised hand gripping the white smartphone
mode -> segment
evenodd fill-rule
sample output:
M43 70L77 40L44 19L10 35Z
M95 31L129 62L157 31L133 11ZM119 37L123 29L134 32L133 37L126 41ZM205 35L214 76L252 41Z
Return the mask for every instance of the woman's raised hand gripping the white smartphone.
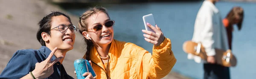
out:
M145 34L143 34L143 36L145 37L145 40L147 42L154 44L155 46L160 45L164 40L163 32L157 25L156 25L156 27L154 27L153 25L151 25L149 23L147 23L147 25L149 28L151 28L156 33L152 32L152 31L142 30L142 32L145 33Z

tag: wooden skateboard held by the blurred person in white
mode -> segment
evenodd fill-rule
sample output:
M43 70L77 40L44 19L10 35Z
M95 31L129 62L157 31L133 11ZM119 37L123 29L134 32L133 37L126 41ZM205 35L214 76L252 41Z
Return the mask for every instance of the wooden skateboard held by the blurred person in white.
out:
M207 54L205 52L204 46L199 42L186 41L183 43L183 51L187 54L193 54L200 56L201 59L207 61ZM234 67L236 66L237 60L236 57L232 54L231 50L227 51L215 48L215 61L219 65L225 67Z

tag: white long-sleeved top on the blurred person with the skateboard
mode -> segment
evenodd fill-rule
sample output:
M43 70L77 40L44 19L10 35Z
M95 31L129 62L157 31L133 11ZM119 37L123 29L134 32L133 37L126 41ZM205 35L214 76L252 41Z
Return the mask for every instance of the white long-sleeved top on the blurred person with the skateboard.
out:
M218 8L209 0L204 0L201 8L198 11L193 42L201 42L205 47L207 56L214 56L215 49L228 49L227 32L222 23L221 15ZM195 62L200 63L201 58L188 54L188 59L195 59Z

